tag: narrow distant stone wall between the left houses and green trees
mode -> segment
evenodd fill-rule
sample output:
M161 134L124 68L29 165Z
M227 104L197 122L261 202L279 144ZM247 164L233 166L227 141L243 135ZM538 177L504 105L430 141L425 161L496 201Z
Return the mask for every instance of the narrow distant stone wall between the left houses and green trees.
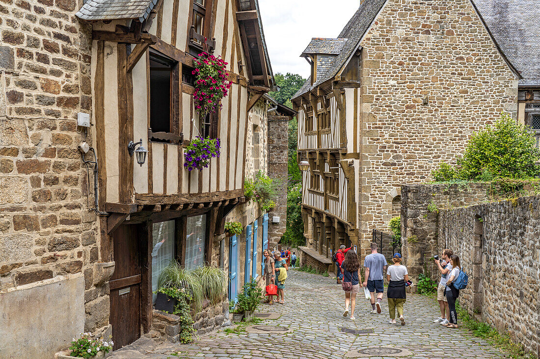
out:
M278 198L273 211L268 213L269 246L278 244L287 225L287 178L289 153L289 118L287 116L268 116L268 171L269 176L280 181ZM279 224L272 223L272 217L280 219Z

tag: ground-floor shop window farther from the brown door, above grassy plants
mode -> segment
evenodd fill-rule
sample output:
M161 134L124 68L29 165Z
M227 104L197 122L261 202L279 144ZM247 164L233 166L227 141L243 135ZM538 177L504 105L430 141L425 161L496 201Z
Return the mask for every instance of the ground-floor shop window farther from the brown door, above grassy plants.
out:
M186 260L187 270L204 265L206 242L206 215L187 218L186 223Z

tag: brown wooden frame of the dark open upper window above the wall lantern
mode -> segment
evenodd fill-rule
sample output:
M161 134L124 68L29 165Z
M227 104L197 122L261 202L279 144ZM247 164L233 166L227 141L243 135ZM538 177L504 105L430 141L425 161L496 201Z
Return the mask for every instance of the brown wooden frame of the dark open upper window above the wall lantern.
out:
M171 83L170 83L170 124L169 132L153 132L151 121L149 118L149 129L148 129L148 139L150 142L165 142L172 144L182 144L184 137L181 134L180 130L180 80L181 80L181 64L179 61L174 60L159 51L152 49L149 51L149 61L147 61L147 71L148 71L148 83L147 83L147 93L150 99L150 88L151 88L151 78L150 78L150 59L154 57L156 59L162 58L171 63ZM149 106L151 101L149 100ZM149 109L150 116L150 109ZM157 141L156 141L157 140Z

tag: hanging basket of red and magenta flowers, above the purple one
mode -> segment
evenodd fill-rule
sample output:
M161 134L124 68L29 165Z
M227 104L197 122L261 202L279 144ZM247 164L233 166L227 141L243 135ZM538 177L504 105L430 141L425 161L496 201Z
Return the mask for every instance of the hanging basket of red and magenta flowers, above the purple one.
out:
M202 52L193 59L195 70L195 92L193 100L200 116L221 108L221 99L227 96L231 83L227 81L227 63L212 54Z

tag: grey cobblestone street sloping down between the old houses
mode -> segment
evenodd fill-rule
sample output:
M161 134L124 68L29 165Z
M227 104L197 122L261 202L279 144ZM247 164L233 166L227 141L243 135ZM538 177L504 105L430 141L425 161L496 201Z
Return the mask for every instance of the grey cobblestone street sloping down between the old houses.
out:
M221 329L189 345L157 344L151 339L141 338L114 352L110 358L503 357L466 329L449 329L433 323L438 306L424 296L408 295L405 326L389 323L386 296L382 301L381 314L371 314L368 301L360 296L356 320L344 318L341 286L335 284L335 279L321 275L289 271L285 299L285 305L262 305L263 321L248 326L246 333L227 334ZM279 319L265 319L268 317L266 313L281 316ZM359 335L342 333L341 328L363 332ZM277 329L281 333L265 332L269 329Z

